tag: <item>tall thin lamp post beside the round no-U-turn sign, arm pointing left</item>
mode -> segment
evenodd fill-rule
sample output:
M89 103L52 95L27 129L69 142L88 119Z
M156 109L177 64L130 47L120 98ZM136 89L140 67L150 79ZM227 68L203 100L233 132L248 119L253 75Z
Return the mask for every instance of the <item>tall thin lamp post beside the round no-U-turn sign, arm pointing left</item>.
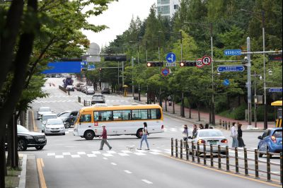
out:
M213 61L213 24L212 23L190 23L190 22L184 22L187 24L192 24L192 25L202 25L209 27L210 31L210 45L211 45L211 57L212 57L212 124L215 124L215 110L214 110L214 61Z

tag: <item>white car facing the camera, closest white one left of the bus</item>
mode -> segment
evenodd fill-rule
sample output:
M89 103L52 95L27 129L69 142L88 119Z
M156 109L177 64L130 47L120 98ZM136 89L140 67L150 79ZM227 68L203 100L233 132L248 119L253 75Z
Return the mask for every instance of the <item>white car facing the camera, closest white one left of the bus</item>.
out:
M62 134L65 135L65 126L60 118L48 119L45 124L45 135Z

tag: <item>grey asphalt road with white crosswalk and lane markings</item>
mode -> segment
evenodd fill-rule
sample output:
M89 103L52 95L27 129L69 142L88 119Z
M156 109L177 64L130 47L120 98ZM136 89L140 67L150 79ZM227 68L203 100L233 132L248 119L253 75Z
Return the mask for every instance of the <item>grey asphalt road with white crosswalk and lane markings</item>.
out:
M75 91L67 95L59 90L58 85L62 84L62 79L47 80L44 90L50 96L33 102L35 118L38 107L51 107L54 113L79 110L82 105L77 102L78 96L82 100L91 99L91 95L81 92ZM50 87L49 83L54 83L55 86ZM134 101L132 98L106 95L106 102L108 105L126 105ZM109 151L104 146L104 150L99 151L100 139L86 141L79 136L73 136L71 128L65 136L47 136L47 146L42 151L28 148L24 153L35 153L38 159L42 159L44 178L40 177L40 180L45 180L47 187L272 187L271 184L258 180L247 180L246 177L237 177L171 158L171 138L181 139L183 124L189 123L183 119L165 116L165 132L149 136L150 151L129 150L127 146L139 146L140 140L135 136L110 136L108 140L112 150ZM40 131L41 122L36 119L35 127ZM191 134L191 127L189 129ZM224 131L224 135L231 143L229 131ZM247 148L257 147L258 135L260 134L244 133L243 139ZM233 151L230 154L233 155ZM243 152L239 152L239 156L243 156ZM254 158L254 154L248 153L248 158ZM226 161L225 158L222 160ZM273 158L272 162L279 163L279 159ZM233 163L234 160L231 159L231 164ZM254 168L251 165L253 162L249 163L249 168ZM243 165L243 161L240 161L240 165ZM266 165L260 164L260 169L266 170ZM278 173L279 168L273 168L272 171ZM250 174L252 176L253 172ZM278 180L277 177L272 178Z

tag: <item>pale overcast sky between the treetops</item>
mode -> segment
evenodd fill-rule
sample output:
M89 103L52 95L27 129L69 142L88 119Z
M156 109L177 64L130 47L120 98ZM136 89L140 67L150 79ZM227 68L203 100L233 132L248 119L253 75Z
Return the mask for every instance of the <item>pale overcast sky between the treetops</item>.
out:
M133 16L134 19L139 16L141 20L149 16L149 8L156 2L156 0L119 0L112 2L108 6L108 10L104 11L100 16L88 18L88 23L107 25L108 29L100 33L84 30L83 34L91 42L96 42L100 48L104 47L115 40L117 35L122 35L129 28Z

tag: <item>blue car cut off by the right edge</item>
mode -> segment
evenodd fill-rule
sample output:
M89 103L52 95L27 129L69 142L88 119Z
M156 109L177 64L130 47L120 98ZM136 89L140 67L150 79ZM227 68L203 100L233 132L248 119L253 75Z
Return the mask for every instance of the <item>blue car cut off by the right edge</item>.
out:
M258 151L280 153L282 152L282 127L266 129L258 143ZM263 153L258 153L262 158Z

